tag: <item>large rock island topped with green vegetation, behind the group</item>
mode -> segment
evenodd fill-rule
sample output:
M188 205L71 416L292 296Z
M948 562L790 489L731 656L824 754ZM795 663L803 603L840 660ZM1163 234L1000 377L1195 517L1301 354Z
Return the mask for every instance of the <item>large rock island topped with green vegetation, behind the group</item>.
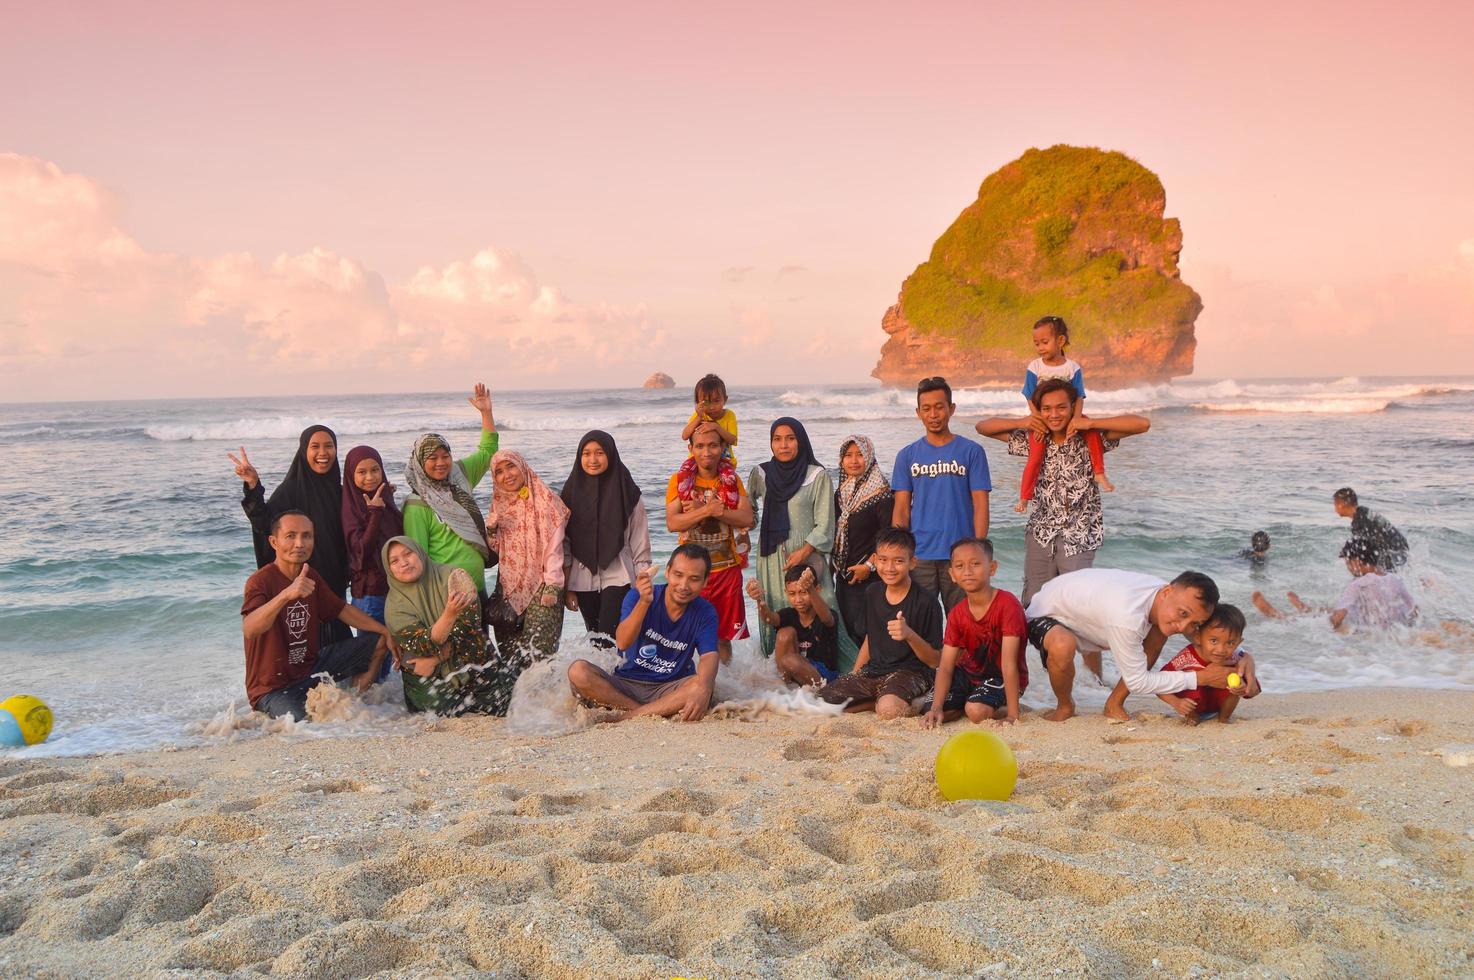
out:
M1157 175L1125 153L1029 150L983 181L901 286L871 371L887 385L1021 383L1033 323L1070 324L1089 388L1192 373L1203 299L1182 281L1182 225Z

